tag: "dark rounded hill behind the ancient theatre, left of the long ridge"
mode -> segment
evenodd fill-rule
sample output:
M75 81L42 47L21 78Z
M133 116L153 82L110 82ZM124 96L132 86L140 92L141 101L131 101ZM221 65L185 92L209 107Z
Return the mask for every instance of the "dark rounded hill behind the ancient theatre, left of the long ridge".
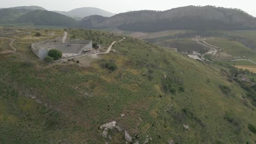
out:
M45 10L33 10L15 22L34 23L34 25L77 27L78 22L71 17Z

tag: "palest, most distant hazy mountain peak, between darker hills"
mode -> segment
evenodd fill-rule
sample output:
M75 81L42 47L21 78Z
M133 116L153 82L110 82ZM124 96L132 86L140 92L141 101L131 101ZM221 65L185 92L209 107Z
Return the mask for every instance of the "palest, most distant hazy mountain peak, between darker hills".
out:
M106 10L98 9L98 8L77 8L70 11L54 11L56 13L60 13L66 16L74 17L79 20L83 19L83 17L91 16L91 15L101 15L104 17L113 16L113 13L110 13Z

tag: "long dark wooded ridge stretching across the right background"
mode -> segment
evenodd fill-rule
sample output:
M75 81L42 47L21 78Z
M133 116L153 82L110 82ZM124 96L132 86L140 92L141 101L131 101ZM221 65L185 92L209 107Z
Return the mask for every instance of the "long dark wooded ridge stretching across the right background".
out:
M86 23L86 20L82 22ZM252 29L256 28L256 19L238 9L188 6L166 11L131 11L109 17L93 27L83 27L143 32L168 29Z

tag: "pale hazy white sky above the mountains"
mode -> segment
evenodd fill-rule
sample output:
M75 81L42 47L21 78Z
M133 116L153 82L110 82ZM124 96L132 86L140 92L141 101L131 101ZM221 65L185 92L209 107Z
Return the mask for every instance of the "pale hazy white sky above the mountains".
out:
M129 10L167 10L187 5L216 5L218 7L238 8L256 16L255 2L253 0L0 0L0 7L17 7L22 5L38 5L48 10L68 11L80 7L96 7L121 13Z

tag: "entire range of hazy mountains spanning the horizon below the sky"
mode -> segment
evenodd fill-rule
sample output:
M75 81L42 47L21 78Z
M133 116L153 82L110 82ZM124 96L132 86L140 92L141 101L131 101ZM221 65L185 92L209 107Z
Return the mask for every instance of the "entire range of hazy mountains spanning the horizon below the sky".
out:
M37 10L32 11L34 9ZM245 11L213 6L188 6L166 11L131 11L114 16L112 13L97 8L79 8L68 12L58 11L58 13L42 9L36 6L0 9L0 24L27 22L35 25L96 29L118 28L125 31L142 32L168 29L243 30L256 28L256 18ZM79 17L83 15L85 17L79 20Z

